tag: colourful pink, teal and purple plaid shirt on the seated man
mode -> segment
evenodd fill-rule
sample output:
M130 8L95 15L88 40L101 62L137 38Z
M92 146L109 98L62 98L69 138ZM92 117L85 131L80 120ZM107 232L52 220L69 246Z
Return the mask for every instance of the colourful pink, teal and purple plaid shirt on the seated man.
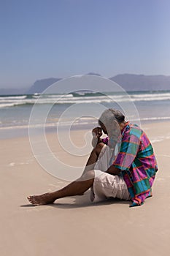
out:
M147 135L137 125L125 125L120 152L113 165L120 169L133 201L140 206L152 196L152 184L158 170L155 154Z

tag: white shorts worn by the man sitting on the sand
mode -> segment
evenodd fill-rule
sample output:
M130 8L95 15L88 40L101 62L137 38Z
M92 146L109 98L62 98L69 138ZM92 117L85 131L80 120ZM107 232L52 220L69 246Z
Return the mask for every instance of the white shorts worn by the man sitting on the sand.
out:
M112 161L112 152L109 146L104 145L96 162L93 187L90 188L90 200L93 202L107 200L109 197L117 197L122 200L131 199L123 177L105 173L109 167L110 160Z

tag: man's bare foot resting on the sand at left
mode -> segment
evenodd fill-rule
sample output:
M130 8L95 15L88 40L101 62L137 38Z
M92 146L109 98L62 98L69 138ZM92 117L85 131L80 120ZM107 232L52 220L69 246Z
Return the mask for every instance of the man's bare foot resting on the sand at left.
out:
M52 193L45 193L42 195L30 195L27 197L30 203L34 206L43 206L55 201Z

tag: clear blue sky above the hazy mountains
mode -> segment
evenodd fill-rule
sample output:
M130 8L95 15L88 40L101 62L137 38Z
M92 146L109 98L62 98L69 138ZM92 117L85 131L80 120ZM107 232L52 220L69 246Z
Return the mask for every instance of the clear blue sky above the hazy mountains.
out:
M169 0L0 0L0 88L98 72L170 75Z

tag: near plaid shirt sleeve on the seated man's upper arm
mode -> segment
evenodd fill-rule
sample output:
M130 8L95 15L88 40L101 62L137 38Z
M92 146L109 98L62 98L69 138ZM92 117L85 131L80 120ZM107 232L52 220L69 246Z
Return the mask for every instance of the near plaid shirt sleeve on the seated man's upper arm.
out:
M113 165L120 170L129 170L139 150L141 133L135 134L133 130L123 135L120 151Z

